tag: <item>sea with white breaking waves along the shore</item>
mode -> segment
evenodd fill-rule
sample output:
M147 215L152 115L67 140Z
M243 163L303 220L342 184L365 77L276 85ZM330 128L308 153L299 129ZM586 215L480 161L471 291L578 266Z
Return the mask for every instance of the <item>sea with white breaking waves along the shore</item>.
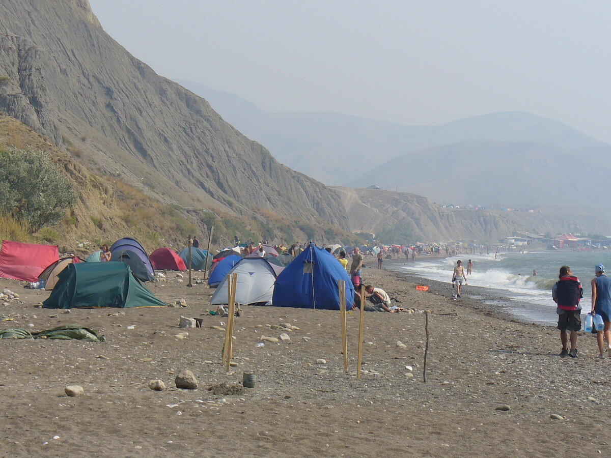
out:
M467 283L485 288L482 291L488 291L489 297L502 297L503 300L486 300L486 295L481 297L474 293L474 290L470 292L469 286L464 289L463 296L477 296L477 299L501 305L509 313L528 321L547 325L557 322L552 286L558 281L561 266L571 267L573 275L579 277L582 283L584 313L590 311L590 282L594 278L594 266L602 263L611 271L611 252L547 250L499 253L497 259L494 258L494 253L431 259L422 256L415 263L404 264L401 269L410 276L450 283L456 261L463 261L466 272L469 259L473 261L473 272L467 275ZM533 270L536 275L533 275Z

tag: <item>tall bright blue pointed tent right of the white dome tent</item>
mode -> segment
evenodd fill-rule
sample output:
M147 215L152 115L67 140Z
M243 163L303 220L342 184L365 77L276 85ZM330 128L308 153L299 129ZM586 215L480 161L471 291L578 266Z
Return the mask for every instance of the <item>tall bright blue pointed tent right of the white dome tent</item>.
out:
M272 302L276 307L339 310L337 281L346 282L346 308L354 301L354 286L342 264L312 242L276 278Z

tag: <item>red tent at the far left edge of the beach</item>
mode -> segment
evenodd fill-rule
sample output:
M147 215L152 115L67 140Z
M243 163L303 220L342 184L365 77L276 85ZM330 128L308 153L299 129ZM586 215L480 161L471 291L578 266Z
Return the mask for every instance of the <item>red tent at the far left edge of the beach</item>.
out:
M59 260L57 245L2 241L0 277L35 282L47 266Z

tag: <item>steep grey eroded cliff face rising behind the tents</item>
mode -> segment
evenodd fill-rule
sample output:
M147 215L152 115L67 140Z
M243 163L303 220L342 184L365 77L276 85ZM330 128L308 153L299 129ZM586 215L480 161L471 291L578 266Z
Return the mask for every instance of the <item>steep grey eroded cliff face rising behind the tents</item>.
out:
M131 56L86 0L0 0L0 54L0 111L93 170L164 202L346 225L334 191Z

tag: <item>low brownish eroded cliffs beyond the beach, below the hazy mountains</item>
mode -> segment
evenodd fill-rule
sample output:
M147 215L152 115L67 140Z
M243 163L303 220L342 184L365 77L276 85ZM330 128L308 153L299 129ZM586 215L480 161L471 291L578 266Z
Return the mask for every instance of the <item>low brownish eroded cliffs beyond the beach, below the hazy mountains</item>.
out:
M333 189L342 196L350 230L411 234L409 240L398 238L397 242L497 242L513 235L513 231L542 234L611 231L611 218L593 208L542 206L533 213L449 209L406 192L338 186Z

